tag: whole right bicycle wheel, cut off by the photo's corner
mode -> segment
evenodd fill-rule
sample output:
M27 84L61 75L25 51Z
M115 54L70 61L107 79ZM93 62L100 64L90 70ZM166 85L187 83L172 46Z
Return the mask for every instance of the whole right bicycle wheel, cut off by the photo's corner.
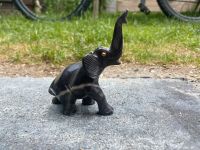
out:
M157 0L157 2L168 17L200 22L200 0Z

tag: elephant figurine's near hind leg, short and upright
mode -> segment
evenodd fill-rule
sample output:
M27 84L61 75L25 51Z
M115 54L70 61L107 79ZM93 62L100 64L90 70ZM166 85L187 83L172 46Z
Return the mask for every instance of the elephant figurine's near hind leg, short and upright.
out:
M76 112L76 98L73 97L71 94L66 94L61 97L61 101L63 104L63 114L70 116Z

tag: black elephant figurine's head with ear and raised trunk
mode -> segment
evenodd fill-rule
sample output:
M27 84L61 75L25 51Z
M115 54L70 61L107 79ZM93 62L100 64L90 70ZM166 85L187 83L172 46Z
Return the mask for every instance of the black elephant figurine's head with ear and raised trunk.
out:
M110 48L98 47L94 52L86 55L83 67L91 78L98 78L105 67L119 65L123 49L122 24L127 23L128 11L125 11L116 21Z

